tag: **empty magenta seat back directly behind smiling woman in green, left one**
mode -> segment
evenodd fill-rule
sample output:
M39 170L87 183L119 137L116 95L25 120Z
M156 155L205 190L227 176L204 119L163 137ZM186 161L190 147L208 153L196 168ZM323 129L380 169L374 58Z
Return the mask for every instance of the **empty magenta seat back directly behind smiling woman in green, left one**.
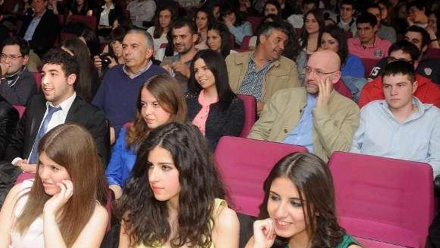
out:
M289 153L306 151L303 146L221 137L214 158L234 210L257 216L264 196L263 182L275 163Z

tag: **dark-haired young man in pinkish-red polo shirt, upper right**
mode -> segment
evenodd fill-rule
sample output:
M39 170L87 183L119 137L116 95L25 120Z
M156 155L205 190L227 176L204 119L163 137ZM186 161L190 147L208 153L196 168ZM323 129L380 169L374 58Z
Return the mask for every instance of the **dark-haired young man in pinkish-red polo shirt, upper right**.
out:
M348 53L366 59L381 59L388 56L391 43L376 36L377 19L370 13L357 17L357 38L348 39Z

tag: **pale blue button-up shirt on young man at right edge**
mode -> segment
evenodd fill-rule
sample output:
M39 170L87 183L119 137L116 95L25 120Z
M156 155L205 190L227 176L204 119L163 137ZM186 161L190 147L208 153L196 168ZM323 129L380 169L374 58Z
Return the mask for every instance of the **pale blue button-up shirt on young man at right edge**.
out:
M404 122L394 119L386 100L376 100L360 111L351 152L425 162L434 177L440 173L440 110L412 99L417 111Z

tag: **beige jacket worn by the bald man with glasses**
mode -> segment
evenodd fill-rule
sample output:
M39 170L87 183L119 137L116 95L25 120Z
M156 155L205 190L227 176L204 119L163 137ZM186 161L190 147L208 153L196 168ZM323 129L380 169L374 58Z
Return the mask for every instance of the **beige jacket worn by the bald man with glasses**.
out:
M248 138L282 142L296 127L307 103L305 88L278 91L264 107ZM359 108L335 90L313 114L313 153L325 162L334 151L349 151L359 125Z

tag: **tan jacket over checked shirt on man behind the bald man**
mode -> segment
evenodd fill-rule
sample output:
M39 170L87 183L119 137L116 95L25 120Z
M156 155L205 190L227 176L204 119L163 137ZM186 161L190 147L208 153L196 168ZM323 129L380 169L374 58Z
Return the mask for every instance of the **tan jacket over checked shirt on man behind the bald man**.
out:
M229 54L226 58L229 85L234 93L237 93L240 89L252 54L253 52L235 53ZM292 60L281 56L270 65L264 76L263 102L270 99L277 90L294 87L300 87L296 64Z

